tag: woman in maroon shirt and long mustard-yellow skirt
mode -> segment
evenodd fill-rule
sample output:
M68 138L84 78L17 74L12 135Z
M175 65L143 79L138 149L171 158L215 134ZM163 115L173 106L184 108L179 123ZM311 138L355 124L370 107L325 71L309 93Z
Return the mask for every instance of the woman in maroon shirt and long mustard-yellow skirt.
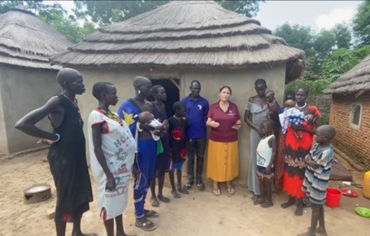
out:
M239 172L238 130L241 126L238 106L229 101L231 88L222 86L219 102L212 104L207 125L212 127L208 142L207 176L213 180L213 193L220 195L219 182L226 182L228 193L235 194L231 181Z

